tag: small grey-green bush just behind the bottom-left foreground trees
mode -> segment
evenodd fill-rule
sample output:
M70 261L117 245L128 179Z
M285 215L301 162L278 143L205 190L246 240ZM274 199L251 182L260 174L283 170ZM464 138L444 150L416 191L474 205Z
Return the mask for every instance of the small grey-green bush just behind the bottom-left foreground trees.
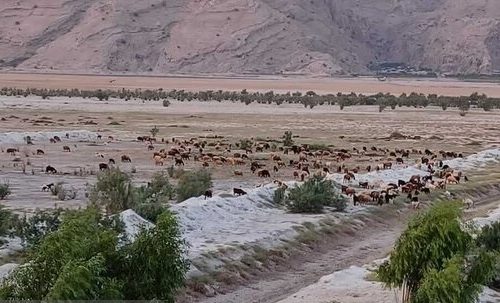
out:
M49 233L61 225L62 209L37 210L34 215L17 220L14 234L23 240L27 247L33 247Z

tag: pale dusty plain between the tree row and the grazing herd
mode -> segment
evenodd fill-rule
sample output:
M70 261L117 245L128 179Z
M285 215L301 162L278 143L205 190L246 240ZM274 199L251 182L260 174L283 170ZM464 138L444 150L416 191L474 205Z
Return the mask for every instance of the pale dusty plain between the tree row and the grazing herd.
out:
M244 107L244 113L242 113ZM415 110L396 109L379 113L375 107L353 107L340 111L337 107L319 106L312 110L300 105L251 105L240 103L200 103L174 102L170 107L162 107L159 102L142 103L137 101L71 100L52 98L42 100L29 98L0 98L2 132L17 132L21 142L2 143L2 149L19 147L18 153L23 158L29 155L30 166L26 167L26 175L22 176L21 166L13 167L13 156L2 153L2 177L12 179L12 185L19 187L22 194L13 195L6 203L22 209L35 207L52 207L56 202L48 193L40 193L40 188L55 180L65 180L80 188L80 199L83 200L85 183L94 180L93 175L79 176L81 169L95 173L98 164L113 158L118 165L131 171L137 170L135 178L144 181L154 171L165 169L173 164L170 159L164 167L155 166L152 151L146 144L137 142L140 135L148 135L153 126L160 129L158 138L167 141L172 138L190 139L197 137L222 136L223 139L206 139L208 141L239 142L243 138L280 139L283 133L291 130L298 143L314 143L333 145L336 148L358 149L363 146L384 146L388 148L430 148L446 149L464 153L464 155L490 148L499 144L500 128L498 112L471 111L460 117L456 111L442 111L436 108ZM270 114L272 113L272 114ZM36 141L28 146L22 141L23 132L54 132L62 134L68 131L90 131L103 140L68 142L51 144L47 139ZM392 132L397 131L406 136L420 136L415 139L390 139ZM64 136L64 135L63 135ZM63 137L61 136L61 137ZM112 136L113 139L107 139ZM76 141L75 141L76 140ZM63 152L62 146L72 148L70 153ZM166 146L167 148L172 147ZM45 155L36 156L37 148L45 151ZM162 144L156 145L156 150ZM238 151L237 149L233 150ZM105 159L97 158L96 153L105 155ZM226 155L229 152L221 151ZM120 163L122 154L130 155L132 163ZM252 155L255 159L269 158L270 151ZM417 156L418 157L418 156ZM290 159L293 156L290 156ZM415 156L413 156L415 158ZM288 158L285 158L286 161ZM373 157L362 157L347 162L348 167L366 167L378 160ZM23 159L26 163L27 160ZM51 176L42 173L46 165L56 167L65 176ZM268 169L272 170L268 162ZM213 169L216 179L215 189L230 189L233 186L253 186L265 180L252 175L247 163L243 167L230 165L216 166ZM201 162L186 161L186 168L200 168ZM335 169L333 167L332 169ZM241 170L243 176L234 176L234 170ZM32 171L34 174L32 174ZM77 176L75 176L77 174ZM16 176L16 177L14 177ZM274 179L293 179L293 169L285 168L272 173ZM26 182L29 180L29 182ZM35 204L34 201L36 201ZM77 199L78 201L78 199ZM73 202L64 202L65 205Z

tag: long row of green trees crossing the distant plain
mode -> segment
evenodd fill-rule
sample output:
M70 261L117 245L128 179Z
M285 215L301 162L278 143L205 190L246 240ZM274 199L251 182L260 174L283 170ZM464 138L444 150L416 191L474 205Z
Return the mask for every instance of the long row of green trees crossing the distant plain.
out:
M79 89L19 89L19 88L2 88L0 95L4 96L24 96L30 95L40 96L44 99L49 97L79 97L79 98L96 98L99 100L122 99L132 100L138 99L143 101L160 101L162 100L167 106L171 100L178 101L233 101L242 102L245 104L264 103L264 104L303 104L305 107L313 108L317 105L338 105L340 109L354 105L378 105L380 111L396 107L427 107L439 106L443 110L449 107L459 108L461 111L467 111L471 107L482 108L485 111L500 108L500 98L491 98L485 94L473 93L470 96L438 96L436 94L401 94L399 96L392 94L378 93L374 95L364 94L326 94L319 95L313 91L308 91L305 94L301 92L295 93L275 93L273 91L248 92L242 90L222 91L222 90L207 90L199 92L190 92L185 90L170 90L163 89L155 90L79 90Z

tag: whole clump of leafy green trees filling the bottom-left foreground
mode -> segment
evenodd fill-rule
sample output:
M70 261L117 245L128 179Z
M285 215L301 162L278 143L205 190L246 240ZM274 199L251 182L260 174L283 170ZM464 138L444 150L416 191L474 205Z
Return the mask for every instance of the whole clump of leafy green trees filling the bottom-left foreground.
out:
M114 217L118 218L118 217ZM3 300L165 300L187 271L185 245L168 211L134 243L97 208L71 211L0 285Z

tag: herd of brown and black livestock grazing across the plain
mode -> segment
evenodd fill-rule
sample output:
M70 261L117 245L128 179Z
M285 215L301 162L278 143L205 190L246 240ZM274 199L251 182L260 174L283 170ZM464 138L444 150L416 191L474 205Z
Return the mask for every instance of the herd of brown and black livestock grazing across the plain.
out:
M102 141L101 135L97 137ZM114 140L107 138L108 142ZM58 144L61 138L54 136L50 142ZM338 182L339 190L352 198L354 205L389 203L400 195L406 195L412 206L418 207L419 196L429 194L432 189L445 189L447 184L457 184L467 181L467 177L460 171L454 171L443 160L461 158L462 154L450 151L431 151L429 149L394 149L380 148L376 146L363 146L360 148L334 149L327 146L310 146L308 144L276 146L266 141L248 140L240 143L230 143L222 138L206 138L158 140L150 136L137 137L137 142L144 144L145 149L151 152L152 164L163 166L170 163L172 166L184 166L188 161L193 165L204 168L215 167L231 170L234 176L244 174L255 175L260 178L271 178L275 175L274 182L280 186L286 186L277 178L294 178L305 181L311 175L327 177L330 174L343 176L342 182ZM249 143L249 144L248 144ZM28 144L32 144L31 140ZM75 145L76 147L76 145ZM63 152L71 152L69 145L62 145ZM15 156L14 161L19 159L18 148L2 149L2 152ZM36 155L44 155L42 149L33 152ZM103 153L96 153L99 170L107 170L119 160L131 163L132 157L122 154L119 159L108 158L105 160ZM105 160L105 162L103 161ZM359 163L366 163L360 167ZM356 181L357 174L361 172L372 172L389 170L395 167L407 167L416 165L422 174L411 176L408 180L395 180L394 183ZM247 170L247 172L245 172ZM280 172L280 171L284 171ZM56 174L58 170L47 165L46 173ZM287 175L289 174L289 175ZM359 177L359 176L358 176ZM241 188L234 188L235 195L243 195L246 192ZM212 192L207 191L206 197L211 197Z

